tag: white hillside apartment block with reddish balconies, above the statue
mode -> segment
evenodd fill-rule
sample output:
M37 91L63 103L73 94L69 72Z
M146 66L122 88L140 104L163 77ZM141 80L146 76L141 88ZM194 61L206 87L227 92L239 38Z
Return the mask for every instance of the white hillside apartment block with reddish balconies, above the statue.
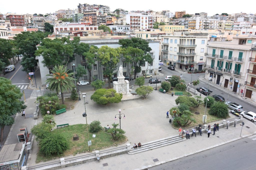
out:
M130 25L130 30L153 29L155 18L153 15L142 15L141 13L129 13L126 15L126 23Z

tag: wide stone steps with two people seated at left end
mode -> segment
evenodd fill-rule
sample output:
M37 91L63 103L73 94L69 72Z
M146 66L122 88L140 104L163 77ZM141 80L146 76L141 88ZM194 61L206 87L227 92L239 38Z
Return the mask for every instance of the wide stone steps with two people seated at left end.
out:
M160 148L163 146L167 146L167 145L171 145L177 142L181 142L186 140L186 135L184 135L184 139L181 138L180 136L171 136L171 137L167 137L167 138L162 138L162 139L158 139L158 140L154 140L154 141L150 141L147 143L142 143L141 148L137 148L134 149L133 148L133 144L131 145L132 149L128 152L128 154L133 155L136 153L141 153L141 152L145 152L148 150L152 150L152 149L156 149L156 148Z

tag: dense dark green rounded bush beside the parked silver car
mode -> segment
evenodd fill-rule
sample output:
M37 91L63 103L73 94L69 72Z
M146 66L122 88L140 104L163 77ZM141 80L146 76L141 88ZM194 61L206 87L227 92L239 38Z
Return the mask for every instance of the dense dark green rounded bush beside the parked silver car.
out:
M229 117L228 105L225 104L224 102L219 102L219 101L215 102L214 104L211 105L209 114L215 115L219 118L227 118Z

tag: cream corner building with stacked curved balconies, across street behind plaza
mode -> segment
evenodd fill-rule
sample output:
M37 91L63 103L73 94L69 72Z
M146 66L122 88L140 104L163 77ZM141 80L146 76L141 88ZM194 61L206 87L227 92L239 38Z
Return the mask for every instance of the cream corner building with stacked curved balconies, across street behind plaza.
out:
M207 33L175 32L163 35L162 61L182 71L204 70Z

